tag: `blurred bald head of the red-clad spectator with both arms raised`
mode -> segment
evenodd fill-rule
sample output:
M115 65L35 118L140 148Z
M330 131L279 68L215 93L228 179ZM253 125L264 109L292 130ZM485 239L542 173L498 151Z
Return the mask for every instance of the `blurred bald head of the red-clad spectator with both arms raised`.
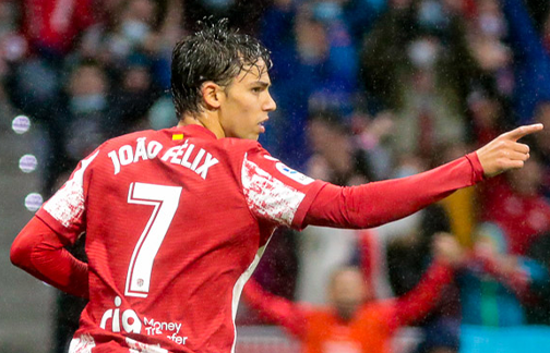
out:
M336 269L328 282L328 301L344 320L350 320L370 297L361 271L356 267Z

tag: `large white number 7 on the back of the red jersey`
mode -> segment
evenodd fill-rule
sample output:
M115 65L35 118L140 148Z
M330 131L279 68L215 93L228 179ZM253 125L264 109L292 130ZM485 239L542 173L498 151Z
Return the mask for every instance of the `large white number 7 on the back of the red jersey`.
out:
M128 267L124 295L146 297L155 256L178 209L181 186L131 183L128 203L154 206Z

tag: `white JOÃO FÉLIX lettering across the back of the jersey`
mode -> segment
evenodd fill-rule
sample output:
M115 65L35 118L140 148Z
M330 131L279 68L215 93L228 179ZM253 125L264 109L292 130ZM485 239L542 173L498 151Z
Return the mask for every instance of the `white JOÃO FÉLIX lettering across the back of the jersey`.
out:
M122 167L154 159L164 149L159 142L153 139L145 143L145 139L146 137L139 137L135 147L124 145L118 150L111 150L107 154L112 161L115 175L120 172ZM203 148L195 150L195 145L190 144L188 139L182 145L169 148L163 154L160 160L189 168L202 179L206 179L210 168L218 163L218 160Z

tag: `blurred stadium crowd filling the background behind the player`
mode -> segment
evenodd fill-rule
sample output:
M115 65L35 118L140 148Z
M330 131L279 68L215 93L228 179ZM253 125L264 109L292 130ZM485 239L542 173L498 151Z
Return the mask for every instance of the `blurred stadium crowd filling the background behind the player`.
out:
M457 352L461 325L550 325L549 10L536 0L0 0L0 119L24 113L40 127L49 196L105 139L177 123L171 49L196 21L224 16L272 51L278 109L260 142L312 178L406 176L545 123L524 169L378 229L282 229L255 273L273 294L324 304L330 273L356 266L372 297L402 296L429 268L434 234L453 234L462 264L411 324L426 332L419 352ZM74 318L60 313L62 351ZM263 322L247 306L238 320Z

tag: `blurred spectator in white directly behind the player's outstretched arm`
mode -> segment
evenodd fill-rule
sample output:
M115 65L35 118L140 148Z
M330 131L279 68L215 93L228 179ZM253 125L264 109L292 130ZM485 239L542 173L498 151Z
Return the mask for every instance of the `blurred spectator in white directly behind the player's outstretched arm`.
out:
M391 130L392 122L387 115L381 114L371 121L368 117L355 114L350 127L350 122L337 111L313 111L307 130L312 155L307 161L306 173L343 186L384 179L381 174L388 169L388 153L383 150L379 141L387 130ZM331 141L331 144L326 144L326 141ZM373 165L384 165L383 157L386 158L385 168L373 168ZM369 236L371 232L348 229L324 227L304 229L297 238L300 266L296 299L314 304L325 303L326 297L323 293L328 280L326 273L345 265L359 265L363 259L366 264L373 265L361 266L361 268L369 267L369 270L364 270L364 275L375 278L372 283L376 289L384 287L384 282L387 282L383 280L386 273L384 264L381 264L385 263L384 244L388 238L398 236L397 233L411 226L410 220L415 218L410 216L406 220L376 228L375 236ZM372 246L368 255L358 251L361 247L359 244L366 239L375 243L369 243ZM371 261L374 258L376 260ZM387 291L380 290L384 292L384 297L388 295Z

